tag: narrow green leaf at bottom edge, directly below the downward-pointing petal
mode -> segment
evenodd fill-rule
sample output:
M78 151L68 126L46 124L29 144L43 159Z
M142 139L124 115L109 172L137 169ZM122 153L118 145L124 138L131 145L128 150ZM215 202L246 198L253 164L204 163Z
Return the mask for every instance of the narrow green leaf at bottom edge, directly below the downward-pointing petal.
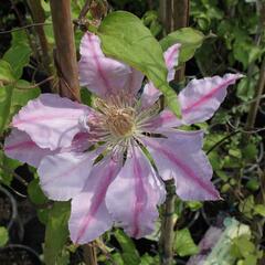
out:
M123 253L123 259L126 265L139 265L140 256L137 252L134 242L129 236L127 236L121 230L115 231L115 237L117 239Z

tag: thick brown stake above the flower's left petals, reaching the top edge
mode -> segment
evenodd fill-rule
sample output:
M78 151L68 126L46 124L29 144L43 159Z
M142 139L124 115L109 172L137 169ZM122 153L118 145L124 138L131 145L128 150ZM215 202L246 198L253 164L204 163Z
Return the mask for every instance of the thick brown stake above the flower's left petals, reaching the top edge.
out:
M71 18L71 0L51 0L56 50L54 63L59 75L59 93L80 100L80 82Z

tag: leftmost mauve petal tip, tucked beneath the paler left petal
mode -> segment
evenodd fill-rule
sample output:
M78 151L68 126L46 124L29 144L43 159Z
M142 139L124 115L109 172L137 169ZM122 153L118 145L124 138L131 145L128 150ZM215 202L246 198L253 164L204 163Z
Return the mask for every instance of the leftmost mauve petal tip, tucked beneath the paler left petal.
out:
M32 141L29 135L15 128L12 129L11 134L4 141L6 156L21 162L26 162L35 168L40 165L43 157L54 152L55 151L51 151L47 148L40 148L34 141Z

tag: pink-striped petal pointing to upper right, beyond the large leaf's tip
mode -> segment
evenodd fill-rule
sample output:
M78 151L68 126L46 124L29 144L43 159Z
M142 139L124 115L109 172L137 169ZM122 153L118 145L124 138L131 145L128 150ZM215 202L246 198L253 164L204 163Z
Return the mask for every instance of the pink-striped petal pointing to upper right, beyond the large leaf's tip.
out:
M241 74L226 74L191 81L179 94L183 121L194 124L211 118L224 100L227 86L241 77Z

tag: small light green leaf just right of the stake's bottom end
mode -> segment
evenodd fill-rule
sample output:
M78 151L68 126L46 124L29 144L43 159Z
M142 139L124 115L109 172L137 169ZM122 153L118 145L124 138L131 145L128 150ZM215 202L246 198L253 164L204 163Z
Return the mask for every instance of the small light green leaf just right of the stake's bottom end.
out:
M195 245L188 229L177 231L174 248L180 256L198 254L199 247Z

